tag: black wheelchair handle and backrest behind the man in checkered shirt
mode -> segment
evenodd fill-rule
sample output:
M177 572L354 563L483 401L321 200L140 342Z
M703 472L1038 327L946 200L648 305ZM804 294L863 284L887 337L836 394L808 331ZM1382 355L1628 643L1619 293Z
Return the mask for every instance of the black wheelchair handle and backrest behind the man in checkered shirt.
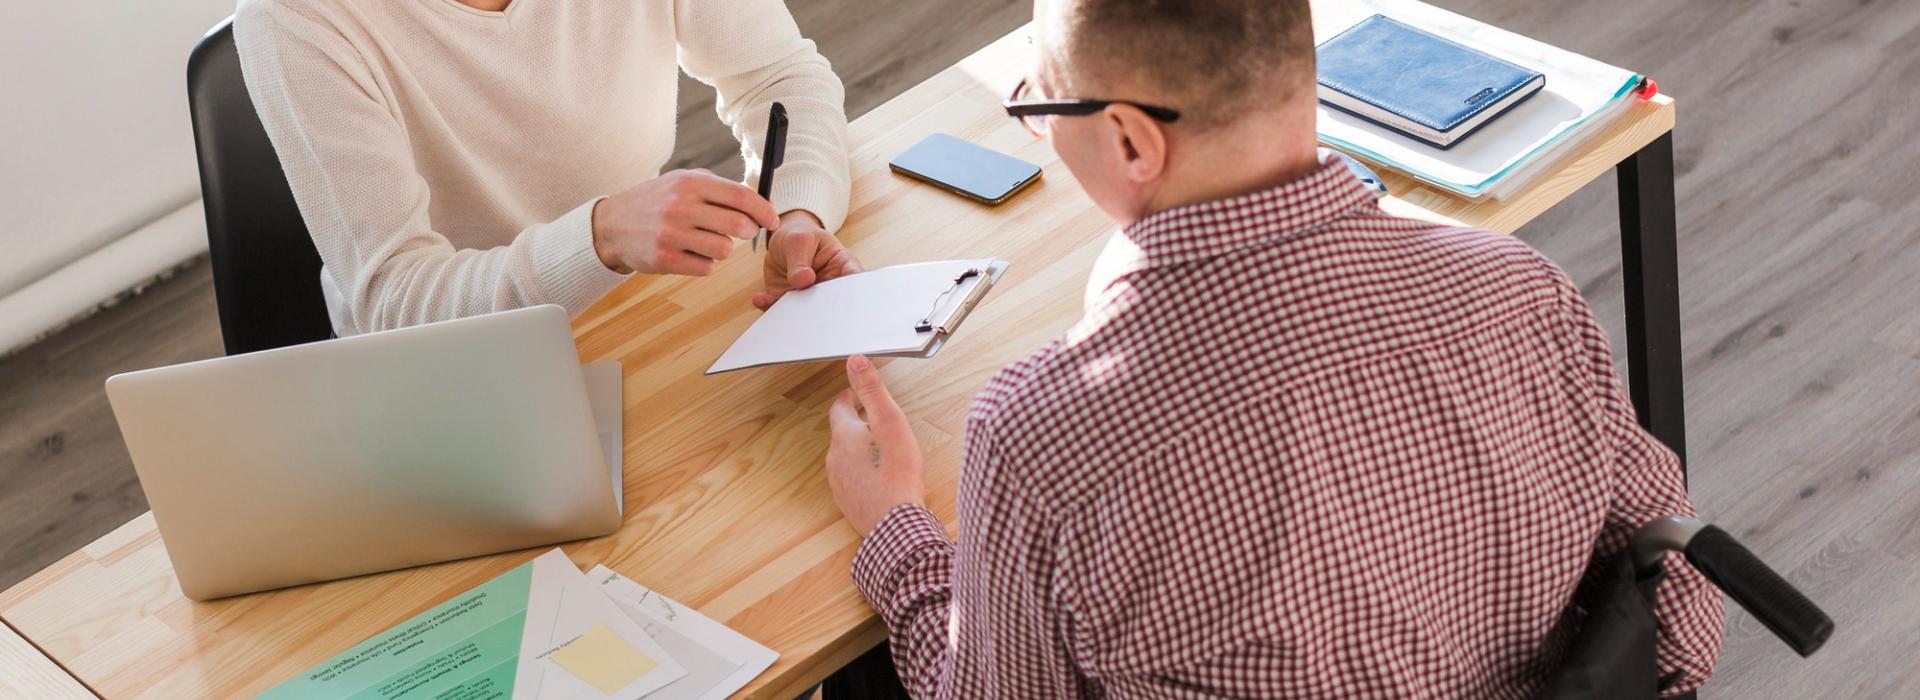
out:
M1707 581L1803 658L1834 635L1834 619L1734 535L1693 518L1667 516L1640 527L1626 552L1588 572L1574 604L1584 619L1544 700L1657 698L1668 685L1653 662L1659 625L1653 598L1667 575L1667 552L1682 552Z

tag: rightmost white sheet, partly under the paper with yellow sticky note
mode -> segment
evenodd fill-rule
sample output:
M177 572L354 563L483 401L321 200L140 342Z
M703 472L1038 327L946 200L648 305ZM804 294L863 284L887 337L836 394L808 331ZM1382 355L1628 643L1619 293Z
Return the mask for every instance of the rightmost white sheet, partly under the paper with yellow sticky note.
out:
M614 570L595 566L588 579L599 583L614 604L687 669L684 679L655 690L647 700L724 700L780 658L772 648Z

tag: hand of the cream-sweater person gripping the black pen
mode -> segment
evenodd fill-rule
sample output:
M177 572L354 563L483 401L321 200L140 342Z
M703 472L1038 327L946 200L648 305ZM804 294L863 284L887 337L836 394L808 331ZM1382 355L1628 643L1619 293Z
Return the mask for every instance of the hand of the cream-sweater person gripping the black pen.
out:
M762 226L780 217L745 184L672 171L593 205L593 251L616 272L707 276Z

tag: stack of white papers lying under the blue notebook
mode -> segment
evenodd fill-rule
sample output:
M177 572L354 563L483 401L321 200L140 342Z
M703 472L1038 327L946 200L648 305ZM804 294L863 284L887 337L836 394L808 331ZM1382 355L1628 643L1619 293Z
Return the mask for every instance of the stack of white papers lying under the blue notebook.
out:
M1640 86L1640 75L1532 38L1490 27L1415 0L1317 2L1313 31L1327 40L1375 13L1546 73L1548 84L1480 128L1438 150L1413 138L1319 105L1319 138L1327 146L1411 175L1463 198L1501 198L1517 192L1546 165L1576 150L1619 117Z

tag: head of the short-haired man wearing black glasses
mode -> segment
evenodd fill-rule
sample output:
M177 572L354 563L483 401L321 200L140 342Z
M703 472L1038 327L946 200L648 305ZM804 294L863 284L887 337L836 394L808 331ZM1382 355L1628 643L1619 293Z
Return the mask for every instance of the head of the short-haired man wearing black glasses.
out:
M1054 150L1116 221L1302 175L1313 163L1308 0L1039 0L1039 98L1133 105L1050 117Z

